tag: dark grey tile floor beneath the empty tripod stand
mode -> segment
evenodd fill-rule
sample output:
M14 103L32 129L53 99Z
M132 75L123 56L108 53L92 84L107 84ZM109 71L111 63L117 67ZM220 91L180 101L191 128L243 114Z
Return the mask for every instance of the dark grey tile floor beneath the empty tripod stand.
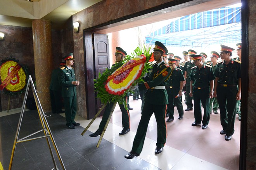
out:
M0 161L4 170L9 168L12 147L14 143L20 114L11 114L0 117ZM55 143L61 155L66 170L156 170L152 164L136 157L126 160L127 151L102 139L99 148L95 141L99 137L89 138L90 131L81 136L84 128L67 129L65 118L52 114L47 117ZM24 112L19 139L42 129L37 110ZM43 132L35 136L42 136ZM34 137L34 136L33 136ZM53 148L57 167L61 170L61 164ZM54 168L50 151L45 138L17 143L12 170L51 170Z

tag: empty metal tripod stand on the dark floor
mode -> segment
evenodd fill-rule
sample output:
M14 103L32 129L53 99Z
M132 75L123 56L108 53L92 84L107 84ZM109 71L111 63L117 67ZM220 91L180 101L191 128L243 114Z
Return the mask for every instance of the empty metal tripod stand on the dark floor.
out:
M29 90L29 85L31 83L31 88L32 88L32 92L33 92L33 96L35 98L35 101L36 101L36 107L37 107L37 110L38 110L38 114L39 114L39 118L40 118L40 121L41 121L41 124L42 124L42 128L41 130L35 132L35 133L32 133L24 138L21 138L21 139L18 139L19 138L19 131L21 129L21 122L22 122L22 117L23 117L23 114L24 114L24 109L25 109L25 105L26 105L26 99L28 97L28 90ZM52 156L52 161L54 163L54 168L52 170L59 170L59 168L57 167L56 165L56 162L55 162L55 158L54 158L54 155L53 155L53 152L52 152L52 147L49 143L49 137L50 139L52 140L52 144L54 146L54 149L57 153L57 156L59 158L59 161L61 163L61 166L62 166L62 169L63 170L66 170L64 164L63 164L63 161L61 159L61 155L59 153L59 150L55 144L55 141L54 141L54 138L52 136L52 132L50 130L50 127L48 125L48 122L45 118L45 113L43 112L43 108L42 108L42 105L40 103L40 100L38 98L38 95L37 95L37 91L35 89L35 86L33 84L33 80L31 78L31 76L29 75L29 78L28 78L28 84L27 84L27 88L26 88L26 93L25 93L25 96L24 96L24 100L23 100L23 104L22 104L22 109L21 109L21 116L19 118L19 124L18 124L18 127L17 127L17 132L16 132L16 136L15 136L15 139L14 139L14 145L13 145L13 148L12 148L12 155L11 155L11 158L10 158L10 164L9 164L9 170L12 169L12 161L13 161L13 157L14 157L14 153L15 153L15 149L16 149L16 145L17 143L21 143L21 142L26 142L26 141L31 141L31 140L34 140L34 139L40 139L40 138L46 138L46 141L47 141L47 144L48 144L48 147L49 147L49 150L50 150L50 154ZM38 137L35 137L35 138L28 138L30 136L33 136L34 134L37 134L37 133L40 133L40 132L44 132L44 136L38 136Z

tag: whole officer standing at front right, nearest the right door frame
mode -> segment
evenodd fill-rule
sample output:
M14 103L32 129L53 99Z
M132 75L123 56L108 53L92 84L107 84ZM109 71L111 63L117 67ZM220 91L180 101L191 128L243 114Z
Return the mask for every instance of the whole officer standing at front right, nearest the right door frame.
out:
M220 134L226 134L225 140L232 139L234 134L237 100L241 99L241 62L231 58L235 49L221 45L220 57L224 59L215 71L214 97L220 106ZM237 89L238 85L238 89Z

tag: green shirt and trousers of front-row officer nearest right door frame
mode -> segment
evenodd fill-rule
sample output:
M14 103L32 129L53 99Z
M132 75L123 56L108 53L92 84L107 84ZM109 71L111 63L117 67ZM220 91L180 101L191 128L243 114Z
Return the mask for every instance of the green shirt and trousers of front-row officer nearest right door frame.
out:
M241 78L241 62L231 59L218 64L215 76L218 79L217 99L220 106L220 123L227 136L234 134L236 95L238 79Z

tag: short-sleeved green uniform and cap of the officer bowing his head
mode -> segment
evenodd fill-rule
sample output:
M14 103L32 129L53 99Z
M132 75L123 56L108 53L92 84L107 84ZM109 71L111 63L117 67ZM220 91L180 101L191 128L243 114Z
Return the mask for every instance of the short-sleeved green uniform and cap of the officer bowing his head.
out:
M199 55L191 55L191 56L199 56ZM200 58L200 57L198 57ZM215 76L213 73L213 69L211 66L202 65L202 68L194 66L192 68L190 74L190 80L193 81L193 99L194 99L194 116L195 123L208 125L210 120L210 111L209 111L209 86L210 81L214 80ZM204 117L202 119L202 110L201 110L201 102L204 108Z

